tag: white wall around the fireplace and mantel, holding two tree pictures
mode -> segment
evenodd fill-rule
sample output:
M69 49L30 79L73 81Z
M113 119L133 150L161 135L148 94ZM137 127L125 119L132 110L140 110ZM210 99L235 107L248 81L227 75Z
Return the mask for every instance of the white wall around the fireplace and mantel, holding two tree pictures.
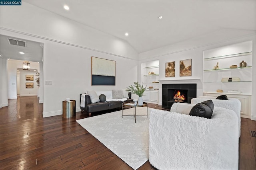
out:
M225 38L225 37L224 37ZM199 78L199 84L201 84L201 87L197 89L197 96L202 96L202 81L203 81L203 51L214 49L217 47L223 47L226 45L232 45L236 43L241 43L245 41L252 41L252 115L251 119L256 120L256 34L236 38L236 39L230 39L229 37L226 37L226 40L222 40L221 42L215 42L210 45L203 45L203 39L202 41L185 41L180 42L178 44L162 47L159 49L154 49L152 51L147 51L144 53L139 54L139 63L144 63L146 61L150 60L157 60L159 59L159 80L172 80L178 82L178 80L184 80L184 79L197 79ZM196 47L196 45L198 45ZM147 57L147 59L146 59ZM179 64L180 60L183 59L192 59L192 76L189 77L180 77L179 76L179 70L176 70L175 77L173 78L166 78L165 77L165 63L170 61L176 61L176 64ZM140 64L139 64L140 66ZM179 68L176 65L176 69ZM140 70L140 69L139 69ZM138 73L140 75L140 72ZM190 81L190 80L189 80ZM188 82L189 82L188 81ZM191 80L195 82L194 80ZM159 104L162 103L162 93L160 92L161 89L159 88Z

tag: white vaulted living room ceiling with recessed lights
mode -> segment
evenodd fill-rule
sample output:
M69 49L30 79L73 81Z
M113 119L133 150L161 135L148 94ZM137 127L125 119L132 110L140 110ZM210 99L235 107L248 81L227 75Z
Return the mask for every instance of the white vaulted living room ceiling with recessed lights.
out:
M256 32L256 0L23 1L124 39L138 53L202 35L214 38L216 31L225 36L222 29Z

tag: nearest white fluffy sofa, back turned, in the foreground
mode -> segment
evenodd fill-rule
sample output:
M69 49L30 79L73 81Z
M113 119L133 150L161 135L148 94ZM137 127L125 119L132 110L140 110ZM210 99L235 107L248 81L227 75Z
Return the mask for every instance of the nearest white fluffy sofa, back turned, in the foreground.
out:
M150 112L150 164L159 170L237 170L236 113L215 106L211 119L174 112L192 106L175 103L172 111Z

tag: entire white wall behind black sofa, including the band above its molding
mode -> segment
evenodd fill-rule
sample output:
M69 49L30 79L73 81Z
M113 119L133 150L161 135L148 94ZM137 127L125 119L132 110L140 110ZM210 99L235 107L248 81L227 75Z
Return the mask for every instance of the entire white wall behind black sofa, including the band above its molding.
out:
M2 35L44 43L43 117L61 115L66 98L80 111L79 94L86 90L125 89L137 81L138 53L126 41L26 2L11 10L0 6L0 20ZM91 86L92 56L116 61L116 86Z

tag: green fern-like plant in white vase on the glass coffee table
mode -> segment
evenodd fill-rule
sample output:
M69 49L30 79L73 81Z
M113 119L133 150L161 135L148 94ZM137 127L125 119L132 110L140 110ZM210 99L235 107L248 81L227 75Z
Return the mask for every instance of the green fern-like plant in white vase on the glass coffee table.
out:
M142 106L143 105L143 99L142 96L145 92L145 90L147 90L147 86L144 88L143 84L140 85L138 82L134 82L135 85L130 85L128 86L128 88L126 89L126 91L131 92L132 94L137 94L139 96L138 98L138 105Z

